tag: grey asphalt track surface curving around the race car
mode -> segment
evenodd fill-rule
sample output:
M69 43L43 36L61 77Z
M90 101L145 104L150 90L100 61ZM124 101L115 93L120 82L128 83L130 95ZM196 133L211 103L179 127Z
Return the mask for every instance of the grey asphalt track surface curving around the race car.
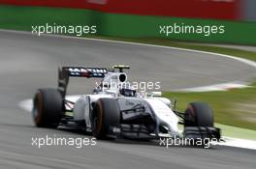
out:
M255 168L255 151L214 146L211 149L172 147L127 140L97 141L96 146L31 146L32 137L91 136L73 130L33 126L20 100L37 88L56 86L58 66L132 66L131 76L163 80L164 89L250 80L255 70L238 61L175 49L116 42L35 37L0 32L0 168ZM92 86L72 81L70 94ZM84 89L84 90L83 90Z

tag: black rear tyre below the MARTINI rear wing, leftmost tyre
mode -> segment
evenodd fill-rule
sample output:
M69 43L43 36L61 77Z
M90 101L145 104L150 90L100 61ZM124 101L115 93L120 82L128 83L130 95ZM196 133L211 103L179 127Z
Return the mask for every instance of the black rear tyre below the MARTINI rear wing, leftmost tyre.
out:
M36 127L57 127L62 117L63 99L57 89L39 89L33 100Z

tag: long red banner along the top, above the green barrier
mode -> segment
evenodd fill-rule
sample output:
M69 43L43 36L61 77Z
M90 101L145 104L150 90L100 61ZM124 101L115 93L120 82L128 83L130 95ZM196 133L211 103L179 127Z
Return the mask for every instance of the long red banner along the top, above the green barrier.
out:
M242 0L0 0L0 4L97 10L115 14L240 19Z

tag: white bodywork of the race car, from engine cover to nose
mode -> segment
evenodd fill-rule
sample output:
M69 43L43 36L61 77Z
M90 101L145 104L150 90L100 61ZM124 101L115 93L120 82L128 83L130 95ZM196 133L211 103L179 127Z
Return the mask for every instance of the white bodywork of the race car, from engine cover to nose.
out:
M80 75L80 72L84 72L85 70L71 69L70 71L71 75ZM94 71L97 72L97 70ZM170 99L160 98L159 96L156 97L154 96L156 93L153 92L148 97L145 94L136 93L135 90L123 87L127 81L127 74L124 72L98 71L104 72L105 74L101 85L94 88L93 94L78 96L70 100L74 103L72 112L73 120L75 122L83 122L86 130L91 131L91 114L93 113L94 103L99 99L109 98L116 99L118 102L121 121L124 122L124 124L139 124L139 126L142 126L143 124L146 124L146 122L144 123L144 119L146 119L145 117L148 118L149 116L149 121L153 122L150 123L150 128L153 129L150 129L150 131L148 130L148 135L159 136L159 134L161 134L159 129L160 126L165 128L166 133L164 134L168 136L179 135L177 128L178 118L171 108L172 105ZM120 92L121 89L131 91L132 95L122 95ZM129 112L127 112L127 110L129 110ZM149 125L147 124L145 126L148 127ZM112 127L112 129L115 131L121 130L120 128L116 129L116 127Z

